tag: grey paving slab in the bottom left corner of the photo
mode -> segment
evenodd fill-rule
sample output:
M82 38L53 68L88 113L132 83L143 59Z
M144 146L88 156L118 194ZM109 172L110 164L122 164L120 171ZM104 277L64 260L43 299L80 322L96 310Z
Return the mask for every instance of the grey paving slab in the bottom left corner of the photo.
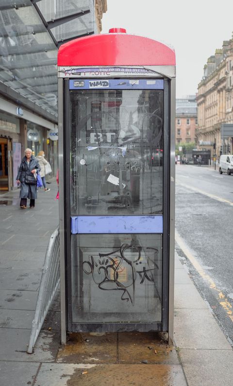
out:
M32 385L38 363L22 363L0 361L0 385L1 386L28 386Z

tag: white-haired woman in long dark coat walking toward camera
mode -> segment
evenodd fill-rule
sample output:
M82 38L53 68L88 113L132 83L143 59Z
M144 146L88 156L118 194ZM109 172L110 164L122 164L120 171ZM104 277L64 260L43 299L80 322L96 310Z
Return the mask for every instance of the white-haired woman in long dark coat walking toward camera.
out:
M20 184L20 208L26 209L27 199L30 199L30 208L34 208L37 199L36 175L40 171L38 161L33 156L32 149L28 147L24 151L23 157L17 174L17 184Z

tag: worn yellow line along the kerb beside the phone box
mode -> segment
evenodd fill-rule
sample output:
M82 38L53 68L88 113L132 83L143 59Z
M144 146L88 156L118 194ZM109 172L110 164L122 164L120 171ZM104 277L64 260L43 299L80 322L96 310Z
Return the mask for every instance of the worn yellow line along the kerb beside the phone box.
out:
M222 291L219 290L216 287L216 284L215 284L214 280L211 278L211 276L206 274L205 270L201 267L201 265L198 262L198 260L196 259L196 257L193 256L193 254L190 251L189 247L187 246L185 241L182 239L182 237L179 235L177 230L175 230L175 240L176 240L177 244L179 245L179 247L182 249L182 251L185 254L185 256L189 259L189 261L192 263L194 268L196 268L196 270L198 271L199 275L205 281L207 281L207 283L209 283L210 289L213 289L213 290L215 290L218 293L218 299L217 299L218 303L227 312L229 318L233 322L232 305L229 303L229 301L227 300L226 296L222 293Z

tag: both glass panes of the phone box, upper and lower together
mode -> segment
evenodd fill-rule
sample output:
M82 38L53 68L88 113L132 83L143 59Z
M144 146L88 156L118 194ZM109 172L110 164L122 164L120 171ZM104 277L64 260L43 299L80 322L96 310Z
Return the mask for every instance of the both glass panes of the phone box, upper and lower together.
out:
M163 213L163 90L70 91L70 129L72 215ZM162 235L71 239L74 323L161 322Z

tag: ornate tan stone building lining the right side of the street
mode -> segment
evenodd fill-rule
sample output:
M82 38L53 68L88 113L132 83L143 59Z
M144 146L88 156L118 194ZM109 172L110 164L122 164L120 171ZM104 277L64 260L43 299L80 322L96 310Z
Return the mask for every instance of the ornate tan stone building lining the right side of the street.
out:
M233 152L233 39L208 58L198 85L197 146L212 158Z

